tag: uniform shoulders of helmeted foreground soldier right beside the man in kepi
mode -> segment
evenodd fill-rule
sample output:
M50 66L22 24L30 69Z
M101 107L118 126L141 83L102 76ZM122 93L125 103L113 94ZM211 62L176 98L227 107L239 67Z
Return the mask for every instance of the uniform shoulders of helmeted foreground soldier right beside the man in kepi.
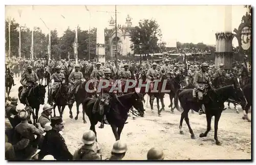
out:
M100 160L100 157L92 146L83 145L75 151L73 160Z

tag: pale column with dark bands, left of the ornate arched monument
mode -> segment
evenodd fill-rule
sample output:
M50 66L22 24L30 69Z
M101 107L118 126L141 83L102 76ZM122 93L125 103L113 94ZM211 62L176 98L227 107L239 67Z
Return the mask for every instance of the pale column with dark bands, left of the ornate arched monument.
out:
M96 38L96 61L105 62L105 32L102 28L97 28Z

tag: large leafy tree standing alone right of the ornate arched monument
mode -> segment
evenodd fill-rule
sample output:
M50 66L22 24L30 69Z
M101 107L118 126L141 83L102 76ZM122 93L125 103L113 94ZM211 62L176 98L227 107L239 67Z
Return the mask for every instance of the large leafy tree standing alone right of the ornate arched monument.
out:
M135 54L150 54L160 51L158 40L162 37L161 30L156 20L144 19L139 21L139 26L131 30L131 49ZM140 50L139 44L142 43Z

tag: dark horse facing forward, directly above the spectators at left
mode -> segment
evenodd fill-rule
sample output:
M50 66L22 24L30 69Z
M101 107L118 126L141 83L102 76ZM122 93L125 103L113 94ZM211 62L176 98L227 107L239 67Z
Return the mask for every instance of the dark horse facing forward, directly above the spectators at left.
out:
M30 91L27 93L27 99L20 100L20 103L25 104L26 106L30 106L32 108L32 115L34 123L37 122L38 119L38 111L40 104L45 103L45 95L46 95L46 86L47 85L34 85L31 87ZM18 88L18 97L20 98L20 94L22 93L23 86ZM25 101L27 100L27 101ZM35 109L35 113L34 113Z

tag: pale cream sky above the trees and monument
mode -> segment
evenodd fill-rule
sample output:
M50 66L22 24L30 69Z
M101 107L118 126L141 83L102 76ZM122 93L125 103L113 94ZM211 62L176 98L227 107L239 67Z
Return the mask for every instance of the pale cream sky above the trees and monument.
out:
M14 18L20 25L29 28L39 27L42 32L56 29L58 35L70 27L75 29L79 25L82 30L89 27L109 28L111 16L115 18L115 6L6 6L6 15ZM21 11L21 17L19 17ZM99 11L109 11L99 12ZM161 41L167 45L179 42L203 42L215 45L215 33L221 31L233 31L239 27L246 9L243 6L117 6L117 24L125 25L125 18L129 14L133 19L133 25L137 26L140 19L155 19L162 31ZM90 16L91 15L91 16ZM65 18L64 18L65 17ZM41 20L41 19L42 20ZM78 36L79 37L79 36ZM235 40L235 39L234 39ZM237 46L237 41L233 41Z

